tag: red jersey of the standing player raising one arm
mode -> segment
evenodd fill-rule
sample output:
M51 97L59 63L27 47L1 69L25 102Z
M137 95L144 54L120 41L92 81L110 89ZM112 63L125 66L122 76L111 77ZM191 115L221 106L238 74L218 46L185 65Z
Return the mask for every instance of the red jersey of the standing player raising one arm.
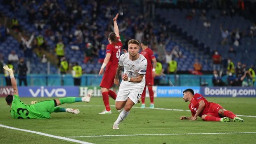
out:
M118 61L120 57L121 47L123 46L120 38L118 38L117 43L111 43L107 45L106 53L110 53L111 57L107 66L118 66Z

